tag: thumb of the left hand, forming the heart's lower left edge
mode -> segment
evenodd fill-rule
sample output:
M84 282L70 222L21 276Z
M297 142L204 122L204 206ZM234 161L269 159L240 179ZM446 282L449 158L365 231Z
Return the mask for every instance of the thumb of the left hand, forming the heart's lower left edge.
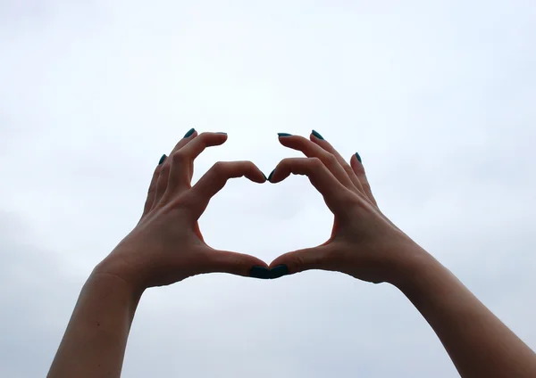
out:
M245 253L212 250L208 266L211 273L270 278L268 264Z

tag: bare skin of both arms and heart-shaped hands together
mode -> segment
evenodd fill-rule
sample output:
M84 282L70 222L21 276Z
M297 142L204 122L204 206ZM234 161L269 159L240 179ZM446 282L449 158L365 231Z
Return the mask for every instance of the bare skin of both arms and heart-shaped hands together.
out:
M193 187L193 160L227 136L194 133L180 141L155 169L138 226L92 272L48 374L118 377L138 301L148 287L188 276L225 272L250 275L267 267L255 257L206 245L197 219L230 177L264 183L249 161L216 163ZM536 356L448 269L379 210L364 167L350 163L317 136L280 136L305 158L284 159L271 182L306 175L334 215L322 245L291 251L270 267L295 274L308 269L339 271L371 283L393 284L423 314L464 377L534 377Z

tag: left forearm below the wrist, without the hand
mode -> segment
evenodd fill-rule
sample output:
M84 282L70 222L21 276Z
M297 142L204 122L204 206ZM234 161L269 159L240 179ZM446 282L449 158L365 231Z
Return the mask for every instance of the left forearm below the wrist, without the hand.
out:
M121 278L90 275L48 378L119 377L140 296Z

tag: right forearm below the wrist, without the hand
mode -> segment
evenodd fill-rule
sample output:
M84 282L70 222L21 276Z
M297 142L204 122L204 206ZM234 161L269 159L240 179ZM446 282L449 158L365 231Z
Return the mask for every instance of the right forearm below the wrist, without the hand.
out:
M426 252L396 285L431 325L459 374L534 377L536 355L459 280Z

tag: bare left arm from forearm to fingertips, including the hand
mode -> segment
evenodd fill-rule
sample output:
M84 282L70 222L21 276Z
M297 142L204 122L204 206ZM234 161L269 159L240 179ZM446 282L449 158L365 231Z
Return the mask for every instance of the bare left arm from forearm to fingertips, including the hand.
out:
M233 161L216 163L191 186L193 160L226 140L221 133L190 132L155 169L138 226L89 276L48 378L119 377L130 325L148 287L202 273L268 272L260 259L206 245L197 224L230 177L266 181L253 163Z

